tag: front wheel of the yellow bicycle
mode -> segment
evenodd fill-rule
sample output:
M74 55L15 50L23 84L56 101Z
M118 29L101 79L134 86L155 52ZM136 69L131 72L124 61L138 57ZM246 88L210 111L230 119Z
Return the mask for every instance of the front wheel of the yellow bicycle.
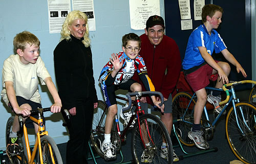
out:
M63 164L59 149L54 140L49 135L41 137L42 160L47 164ZM50 151L52 150L52 152ZM37 161L40 163L39 148L37 148ZM52 154L51 154L52 153Z

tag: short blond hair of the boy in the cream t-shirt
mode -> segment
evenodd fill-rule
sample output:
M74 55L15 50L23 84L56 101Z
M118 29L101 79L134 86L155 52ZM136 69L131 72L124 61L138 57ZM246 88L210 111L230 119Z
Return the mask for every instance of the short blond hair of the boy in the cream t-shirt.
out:
M39 46L40 41L34 34L28 31L18 33L13 39L14 52L16 53L18 49L24 51L27 44Z

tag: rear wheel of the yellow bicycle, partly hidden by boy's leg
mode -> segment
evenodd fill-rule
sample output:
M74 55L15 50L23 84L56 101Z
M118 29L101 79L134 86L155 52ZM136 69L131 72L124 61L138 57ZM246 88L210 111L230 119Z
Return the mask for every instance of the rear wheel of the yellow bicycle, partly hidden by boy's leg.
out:
M9 144L9 134L11 132L11 128L12 128L12 124L13 124L13 121L14 121L14 118L15 116L10 116L10 118L8 119L7 123L6 123L6 147L7 145ZM21 149L21 153L19 156L21 156L22 160L20 160L17 156L12 156L11 158L12 159L12 162L13 163L27 163L27 157L28 157L28 153L27 153L27 150L24 149L26 148L26 143L25 143L25 137L24 135L22 135L22 137L20 137L20 135L18 134L18 145ZM11 159L9 158L9 161ZM11 161L10 161L11 163Z

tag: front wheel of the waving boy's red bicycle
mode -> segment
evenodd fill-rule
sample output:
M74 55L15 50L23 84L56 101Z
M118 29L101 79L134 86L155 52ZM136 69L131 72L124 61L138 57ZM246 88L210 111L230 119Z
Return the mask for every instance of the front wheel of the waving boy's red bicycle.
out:
M139 128L139 125L141 128ZM147 128L143 128L147 125ZM146 130L148 129L148 130ZM150 142L151 147L145 149L144 144L141 140L140 134L144 134L143 142L144 144ZM146 139L151 138L151 139ZM160 157L161 146L163 143L163 138L167 141L167 158L164 159ZM136 124L133 128L132 133L132 155L135 163L141 162L141 155L143 151L151 155L152 163L173 163L173 145L172 140L170 140L169 133L164 126L163 122L155 115L143 114L139 117L139 124Z

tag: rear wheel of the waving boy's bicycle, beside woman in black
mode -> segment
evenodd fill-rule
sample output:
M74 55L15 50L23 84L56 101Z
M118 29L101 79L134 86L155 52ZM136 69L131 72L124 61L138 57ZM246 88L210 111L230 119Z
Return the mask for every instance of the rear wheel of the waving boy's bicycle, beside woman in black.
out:
M101 152L100 147L104 140L105 133L105 119L108 113L108 107L105 102L99 100L98 108L94 110L93 123L91 130L91 144L99 156L104 158L104 154Z

